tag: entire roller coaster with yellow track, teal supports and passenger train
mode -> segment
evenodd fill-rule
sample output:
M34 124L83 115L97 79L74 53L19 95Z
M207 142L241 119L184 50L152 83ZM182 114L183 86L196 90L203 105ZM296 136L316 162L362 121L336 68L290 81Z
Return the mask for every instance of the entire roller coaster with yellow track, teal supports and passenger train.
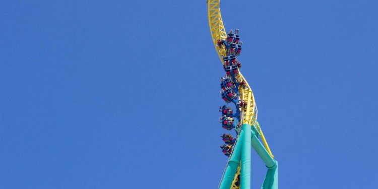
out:
M221 98L226 103L235 105L235 111L225 105L219 108L222 128L227 131L235 130L236 137L231 134L221 136L225 143L221 149L228 157L228 162L218 188L250 188L252 146L268 168L261 188L276 189L278 162L274 159L257 121L258 109L254 93L239 70L241 63L237 56L242 49L239 30L226 33L219 7L220 0L207 0L206 4L212 41L226 72L226 76L221 78Z

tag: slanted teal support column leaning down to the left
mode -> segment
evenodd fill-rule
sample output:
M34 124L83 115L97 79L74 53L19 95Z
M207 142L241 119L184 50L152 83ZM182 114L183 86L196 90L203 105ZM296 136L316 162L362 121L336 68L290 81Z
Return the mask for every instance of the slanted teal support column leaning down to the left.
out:
M247 133L250 133L250 132L247 132ZM241 131L236 141L234 150L230 158L228 159L226 170L223 174L223 178L218 187L219 189L230 189L231 187L232 181L237 171L237 167L239 166L239 162L240 162L241 145L243 143L243 138L244 138L243 135L244 135L244 132Z

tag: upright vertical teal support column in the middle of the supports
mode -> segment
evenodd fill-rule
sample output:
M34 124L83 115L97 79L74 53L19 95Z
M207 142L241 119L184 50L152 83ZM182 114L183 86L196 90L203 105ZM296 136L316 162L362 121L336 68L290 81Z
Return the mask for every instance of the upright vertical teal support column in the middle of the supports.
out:
M241 125L244 132L242 150L241 150L241 169L240 169L240 189L250 189L250 146L251 144L251 127L249 124Z

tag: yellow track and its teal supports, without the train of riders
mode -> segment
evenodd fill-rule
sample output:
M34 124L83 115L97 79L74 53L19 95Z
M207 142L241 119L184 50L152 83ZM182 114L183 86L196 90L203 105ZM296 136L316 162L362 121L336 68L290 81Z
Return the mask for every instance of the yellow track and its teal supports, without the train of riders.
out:
M223 25L222 16L220 12L220 0L207 0L208 8L208 20L210 33L212 37L212 42L218 54L218 57L222 63L222 56L226 56L226 49L224 45L219 48L217 46L217 41L226 39L227 34L225 27ZM272 189L278 188L278 164L273 159L274 156L269 148L269 145L265 139L263 131L261 130L260 124L257 121L258 109L255 102L255 97L251 87L239 71L239 76L237 77L238 82L245 82L245 87L239 87L239 98L240 100L247 103L246 108L241 108L240 117L242 118L241 122L243 123L242 130L239 132L237 141L235 143L234 150L228 160L228 164L225 168L225 171L222 176L222 180L218 188L221 189L249 189L250 188L250 146L253 146L254 149L258 152L263 161L268 165L271 165L272 162L275 163L275 166L268 169L263 189ZM245 125L245 126L244 126ZM247 126L246 126L247 125ZM258 132L259 135L255 135L253 130ZM248 130L248 132L246 132ZM246 134L248 133L248 134ZM261 136L263 144L260 143L258 137ZM240 141L242 140L242 141ZM259 145L260 144L260 145ZM263 146L264 145L264 146ZM241 163L239 162L241 160ZM240 166L241 165L241 166ZM233 176L231 176L233 175ZM242 176L240 176L242 175ZM240 179L238 179L238 177ZM231 182L231 180L233 181Z

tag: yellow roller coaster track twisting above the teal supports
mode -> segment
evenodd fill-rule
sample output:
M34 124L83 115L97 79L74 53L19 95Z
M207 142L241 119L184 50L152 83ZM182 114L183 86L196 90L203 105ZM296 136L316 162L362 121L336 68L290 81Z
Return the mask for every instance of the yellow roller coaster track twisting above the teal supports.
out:
M219 48L217 46L217 41L222 40L222 39L226 39L227 34L226 34L226 30L225 30L224 25L223 25L222 16L221 16L221 12L220 12L220 7L219 7L220 0L207 0L206 3L207 3L208 20L209 20L211 38L213 40L215 50L217 51L219 59L220 59L222 65L223 65L224 62L223 62L222 55L226 56L226 49L225 49L224 45L222 45L222 48ZM258 110L257 110L256 102L255 102L254 93L253 93L252 89L250 88L248 82L244 79L243 75L240 73L240 71L239 71L239 76L238 76L237 79L238 79L239 82L244 81L245 84L246 84L245 88L243 88L241 86L239 87L240 100L247 102L247 107L241 109L242 123L243 124L248 123L248 124L254 125L256 127L256 129L258 130L258 132L261 135L261 140L263 141L263 144L264 144L266 150L268 151L270 156L273 158L274 156L273 156L273 154L272 154L272 152L271 152L271 150L268 146L267 141L265 140L263 131L260 128L260 124L257 121ZM238 170L240 170L240 167L238 168ZM232 182L232 185L231 185L231 188L233 188L233 189L239 188L238 186L235 185L235 182L237 181L238 174L240 174L240 171L237 171L237 173L235 174L235 179L234 179L234 181Z

